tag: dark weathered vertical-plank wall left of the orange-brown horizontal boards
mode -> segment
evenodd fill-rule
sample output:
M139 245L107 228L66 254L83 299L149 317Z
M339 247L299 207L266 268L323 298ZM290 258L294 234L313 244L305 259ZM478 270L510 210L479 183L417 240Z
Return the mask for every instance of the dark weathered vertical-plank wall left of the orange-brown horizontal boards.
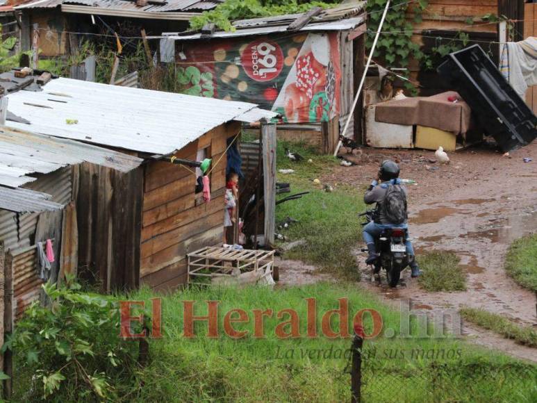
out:
M103 292L138 287L143 168L127 174L84 163L77 195L79 277Z

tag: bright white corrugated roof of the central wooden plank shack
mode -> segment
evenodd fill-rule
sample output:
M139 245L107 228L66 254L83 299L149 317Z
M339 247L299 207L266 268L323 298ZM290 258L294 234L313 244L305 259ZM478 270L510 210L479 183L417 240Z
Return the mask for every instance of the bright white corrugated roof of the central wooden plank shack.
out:
M8 110L31 122L8 122L10 126L150 154L172 154L220 124L239 117L245 121L243 114L256 108L246 102L72 79L52 80L41 92L19 91L8 99Z

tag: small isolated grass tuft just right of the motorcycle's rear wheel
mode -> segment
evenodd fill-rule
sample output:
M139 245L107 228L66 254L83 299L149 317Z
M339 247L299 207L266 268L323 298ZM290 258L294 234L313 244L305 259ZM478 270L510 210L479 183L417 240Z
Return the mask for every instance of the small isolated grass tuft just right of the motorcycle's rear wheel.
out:
M431 252L418 257L423 274L418 279L424 290L463 291L466 289L466 276L458 265L461 261L452 252Z

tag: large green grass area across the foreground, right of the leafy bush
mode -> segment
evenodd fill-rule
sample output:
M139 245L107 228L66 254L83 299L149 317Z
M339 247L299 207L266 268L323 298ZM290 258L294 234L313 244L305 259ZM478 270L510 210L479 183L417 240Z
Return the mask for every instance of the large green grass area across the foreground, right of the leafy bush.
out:
M154 297L145 289L131 296L133 299L148 300ZM233 340L223 334L217 339L208 339L206 324L196 327L197 337L183 337L184 300L196 301L195 313L206 315L204 301L221 302L220 320L231 308L245 309L251 318L252 309L273 309L274 312L284 308L293 308L301 318L301 335L306 334L306 304L304 299L317 299L317 313L320 315L328 309L337 307L337 299L349 299L349 312L358 309L377 309L383 318L383 329L394 329L399 334L399 313L392 311L379 299L369 293L356 290L352 285L333 285L320 283L302 288L208 288L205 290L185 290L183 293L167 295L163 299L163 327L165 338L151 340L151 363L142 370L135 392L127 400L131 402L341 402L350 397L350 377L345 372L347 359L323 359L322 356L302 356L302 352L345 350L350 346L350 339L336 338L329 340L318 338L295 338L280 340L274 336L274 327L281 320L265 320L266 338L255 339L251 336ZM285 319L283 319L285 320ZM412 322L415 334L415 322ZM252 329L249 324L235 324L238 330ZM222 328L220 328L222 329ZM370 331L369 323L366 331ZM375 340L366 340L365 349L370 354L365 361L364 377L367 384L363 393L370 402L429 402L431 396L436 401L447 401L455 390L466 390L459 401L510 401L506 400L512 393L509 386L516 385L517 402L530 402L535 393L534 381L520 379L520 374L513 372L504 381L504 388L488 388L488 376L472 380L472 394L467 389L466 377L461 372L466 364L479 363L483 368L497 368L502 365L516 364L513 359L500 354L468 345L453 338L397 338L381 336ZM295 351L294 356L288 352ZM454 358L427 359L423 356L411 356L413 350L424 352L457 352ZM279 353L278 353L279 352ZM373 352L374 355L373 355ZM286 356L286 358L279 358ZM429 354L429 353L427 353ZM431 378L431 363L443 363L450 369L445 373L445 390L434 390ZM531 365L522 365L524 372L534 371ZM375 370L373 371L373 368ZM487 372L488 373L488 372ZM466 385L468 387L468 385ZM476 390L477 388L477 390ZM535 397L535 395L533 395ZM514 400L511 400L514 401Z

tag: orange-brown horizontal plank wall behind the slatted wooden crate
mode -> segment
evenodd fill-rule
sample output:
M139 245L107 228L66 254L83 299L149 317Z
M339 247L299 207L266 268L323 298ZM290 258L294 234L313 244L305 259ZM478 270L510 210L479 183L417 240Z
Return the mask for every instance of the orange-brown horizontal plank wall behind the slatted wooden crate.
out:
M179 158L195 160L197 151L206 149L206 155L213 158L209 203L204 203L201 193L195 194L195 175L181 165L147 165L140 248L143 283L161 290L176 288L186 282L186 254L222 242L224 151L227 138L239 131L238 122L222 124L176 153Z

